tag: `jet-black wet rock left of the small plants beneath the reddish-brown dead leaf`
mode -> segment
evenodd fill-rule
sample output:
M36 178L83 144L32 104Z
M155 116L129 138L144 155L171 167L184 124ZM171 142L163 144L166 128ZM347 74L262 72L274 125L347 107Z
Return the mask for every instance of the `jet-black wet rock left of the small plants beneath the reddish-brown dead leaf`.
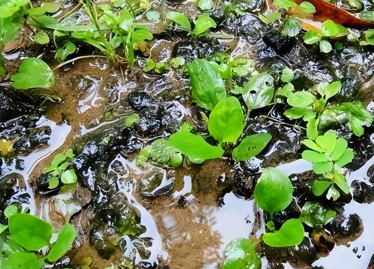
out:
M296 43L295 37L283 36L278 31L270 31L262 37L265 44L274 49L277 54L288 54Z

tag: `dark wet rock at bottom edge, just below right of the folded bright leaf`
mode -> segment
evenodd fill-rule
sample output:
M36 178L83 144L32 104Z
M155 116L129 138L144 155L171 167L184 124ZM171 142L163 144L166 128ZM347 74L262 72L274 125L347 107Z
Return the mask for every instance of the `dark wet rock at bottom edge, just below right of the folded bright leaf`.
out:
M288 261L294 268L307 268L318 259L317 250L307 237L297 247L289 248L288 253Z

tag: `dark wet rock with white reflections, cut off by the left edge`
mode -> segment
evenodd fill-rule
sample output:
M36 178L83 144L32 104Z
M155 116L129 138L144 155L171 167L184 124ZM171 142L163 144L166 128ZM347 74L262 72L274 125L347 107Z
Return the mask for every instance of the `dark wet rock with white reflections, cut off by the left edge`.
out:
M30 204L31 196L22 175L12 173L0 179L0 211L12 204Z

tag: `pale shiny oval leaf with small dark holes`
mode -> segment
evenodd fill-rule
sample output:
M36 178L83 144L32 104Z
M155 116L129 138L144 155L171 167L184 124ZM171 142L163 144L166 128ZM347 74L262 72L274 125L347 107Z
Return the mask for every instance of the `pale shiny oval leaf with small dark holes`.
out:
M274 79L267 73L253 76L243 88L243 99L248 110L270 104L274 95Z

